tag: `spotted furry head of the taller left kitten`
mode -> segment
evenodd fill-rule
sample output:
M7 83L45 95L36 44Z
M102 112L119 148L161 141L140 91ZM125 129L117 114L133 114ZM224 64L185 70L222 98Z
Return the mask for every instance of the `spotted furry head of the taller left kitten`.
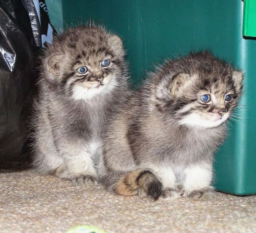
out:
M124 55L121 39L103 27L70 28L47 49L43 77L58 94L90 100L126 84Z

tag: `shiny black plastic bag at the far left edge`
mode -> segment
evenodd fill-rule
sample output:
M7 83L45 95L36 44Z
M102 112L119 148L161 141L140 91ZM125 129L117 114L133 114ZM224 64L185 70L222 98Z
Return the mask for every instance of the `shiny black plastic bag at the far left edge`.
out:
M35 48L22 1L0 0L0 161L19 155L26 141Z

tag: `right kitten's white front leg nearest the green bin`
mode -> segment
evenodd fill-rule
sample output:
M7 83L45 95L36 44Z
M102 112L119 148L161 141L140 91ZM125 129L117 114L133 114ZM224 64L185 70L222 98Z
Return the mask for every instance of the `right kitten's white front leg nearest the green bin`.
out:
M197 164L185 169L183 183L184 196L191 199L211 199L214 188L210 186L212 180L212 165Z

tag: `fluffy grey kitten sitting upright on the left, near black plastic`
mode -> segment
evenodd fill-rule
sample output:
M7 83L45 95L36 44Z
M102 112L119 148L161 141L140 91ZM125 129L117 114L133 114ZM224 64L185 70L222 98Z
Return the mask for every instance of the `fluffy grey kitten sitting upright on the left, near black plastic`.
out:
M70 28L47 48L33 120L39 172L95 180L101 127L128 90L124 55L121 39L98 26Z

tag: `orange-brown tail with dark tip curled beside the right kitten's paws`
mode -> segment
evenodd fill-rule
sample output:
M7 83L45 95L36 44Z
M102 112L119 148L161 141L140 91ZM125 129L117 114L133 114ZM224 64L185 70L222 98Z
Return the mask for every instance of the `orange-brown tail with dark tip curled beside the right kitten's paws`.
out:
M114 191L124 196L144 193L156 201L163 193L163 185L151 171L138 169L122 176L116 183Z

